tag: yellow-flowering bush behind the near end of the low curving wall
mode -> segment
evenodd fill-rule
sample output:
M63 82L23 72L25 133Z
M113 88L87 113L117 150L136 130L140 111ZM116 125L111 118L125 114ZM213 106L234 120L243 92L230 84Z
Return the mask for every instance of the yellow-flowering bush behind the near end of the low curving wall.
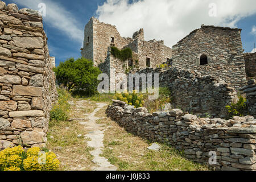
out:
M144 104L143 95L136 93L136 90L133 90L133 93L116 93L113 98L115 100L126 102L126 104L133 105L135 108L142 107Z

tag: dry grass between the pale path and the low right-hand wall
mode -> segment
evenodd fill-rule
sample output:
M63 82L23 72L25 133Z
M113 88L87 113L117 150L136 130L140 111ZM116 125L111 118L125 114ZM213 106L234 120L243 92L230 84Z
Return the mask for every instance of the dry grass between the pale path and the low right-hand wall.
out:
M110 163L119 171L206 171L207 166L192 162L182 152L160 144L160 151L147 149L150 142L127 133L109 118L101 119L101 123L110 125L105 131L104 153Z

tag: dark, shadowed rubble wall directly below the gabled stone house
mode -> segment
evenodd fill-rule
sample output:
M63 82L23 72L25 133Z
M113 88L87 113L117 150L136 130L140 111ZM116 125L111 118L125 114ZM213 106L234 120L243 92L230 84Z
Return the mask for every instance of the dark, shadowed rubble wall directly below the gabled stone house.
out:
M225 117L225 106L237 99L237 92L230 84L197 71L171 67L147 68L136 73L159 73L159 86L170 89L171 104L196 115L208 113L213 117ZM154 83L154 77L152 81Z

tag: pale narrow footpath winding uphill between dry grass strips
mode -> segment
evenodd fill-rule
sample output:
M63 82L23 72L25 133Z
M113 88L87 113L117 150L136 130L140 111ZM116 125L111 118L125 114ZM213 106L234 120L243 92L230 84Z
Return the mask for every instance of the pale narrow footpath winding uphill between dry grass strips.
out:
M81 107L83 105L83 101L80 100L77 107ZM86 105L86 104L84 104ZM101 110L106 104L104 103L96 103L97 108L90 114L85 114L85 119L89 119L86 122L79 122L81 125L85 125L85 130L88 131L88 134L85 137L89 138L90 140L87 142L88 147L93 147L94 150L90 151L90 154L94 156L92 160L96 166L92 167L93 171L115 171L117 168L108 162L108 159L100 156L102 154L102 150L104 149L104 131L108 129L108 127L100 125L96 123L98 118L95 116L97 111Z

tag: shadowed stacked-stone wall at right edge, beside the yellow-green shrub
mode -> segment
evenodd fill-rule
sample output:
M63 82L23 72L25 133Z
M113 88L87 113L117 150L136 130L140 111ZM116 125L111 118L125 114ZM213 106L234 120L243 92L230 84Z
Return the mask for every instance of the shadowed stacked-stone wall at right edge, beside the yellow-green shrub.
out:
M249 80L247 85L241 88L241 91L246 94L248 113L256 118L256 81Z

